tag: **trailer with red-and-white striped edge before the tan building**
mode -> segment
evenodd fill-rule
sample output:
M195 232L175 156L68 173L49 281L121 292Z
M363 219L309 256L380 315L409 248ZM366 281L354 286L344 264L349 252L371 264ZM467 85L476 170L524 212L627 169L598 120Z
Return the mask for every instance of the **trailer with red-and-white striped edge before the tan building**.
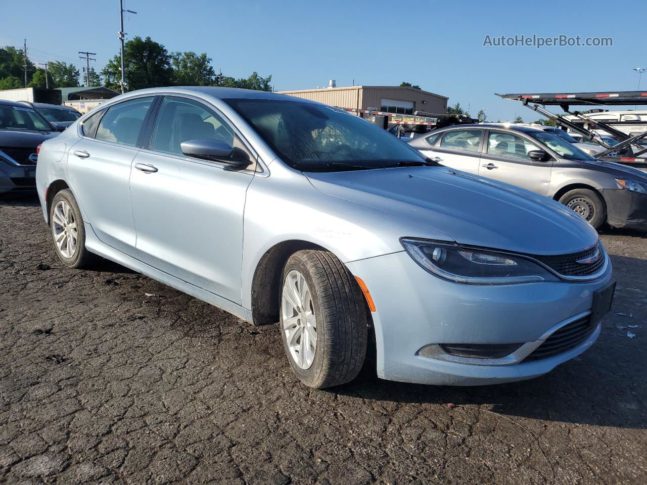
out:
M443 128L449 125L461 125L477 123L478 120L470 118L465 114L433 114L416 111L413 114L388 113L375 109L344 108L345 111L353 113L360 118L378 125L382 129L390 130L397 126L397 136L402 133L426 133L436 128Z

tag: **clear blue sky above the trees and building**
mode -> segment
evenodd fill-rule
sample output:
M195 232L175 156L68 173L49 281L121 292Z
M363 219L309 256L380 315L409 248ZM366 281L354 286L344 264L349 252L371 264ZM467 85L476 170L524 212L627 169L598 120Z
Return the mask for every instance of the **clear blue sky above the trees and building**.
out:
M36 62L96 52L96 69L118 52L118 0L4 2L0 45L27 37ZM635 89L647 67L647 2L325 0L126 0L128 37L168 50L206 52L215 69L272 74L278 90L419 84L450 103L486 108L488 120L538 118L495 92ZM635 19L635 23L633 23ZM486 34L611 37L613 47L483 47ZM647 72L642 85L647 89Z

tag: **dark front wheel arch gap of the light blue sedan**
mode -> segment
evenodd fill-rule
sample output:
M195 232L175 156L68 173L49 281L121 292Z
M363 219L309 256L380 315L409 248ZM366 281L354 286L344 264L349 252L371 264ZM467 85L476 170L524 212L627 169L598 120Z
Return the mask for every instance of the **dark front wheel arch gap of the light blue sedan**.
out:
M281 274L287 259L304 249L328 251L320 244L302 239L290 239L274 244L267 250L254 270L252 278L252 322L269 325L279 321Z

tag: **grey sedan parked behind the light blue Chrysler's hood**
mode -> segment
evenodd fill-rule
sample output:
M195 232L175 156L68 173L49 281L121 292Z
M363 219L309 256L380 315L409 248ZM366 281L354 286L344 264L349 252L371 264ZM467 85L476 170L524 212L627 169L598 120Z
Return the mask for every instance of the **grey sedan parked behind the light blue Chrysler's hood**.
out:
M531 125L477 124L434 130L409 142L440 164L562 202L594 228L647 231L647 173L602 162Z

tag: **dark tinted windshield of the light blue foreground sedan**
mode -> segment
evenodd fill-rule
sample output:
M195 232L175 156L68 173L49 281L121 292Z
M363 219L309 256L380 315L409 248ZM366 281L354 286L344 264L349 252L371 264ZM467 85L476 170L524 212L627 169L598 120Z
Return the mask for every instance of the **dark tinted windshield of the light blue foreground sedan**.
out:
M289 166L302 171L424 164L415 149L354 114L283 100L225 100Z

